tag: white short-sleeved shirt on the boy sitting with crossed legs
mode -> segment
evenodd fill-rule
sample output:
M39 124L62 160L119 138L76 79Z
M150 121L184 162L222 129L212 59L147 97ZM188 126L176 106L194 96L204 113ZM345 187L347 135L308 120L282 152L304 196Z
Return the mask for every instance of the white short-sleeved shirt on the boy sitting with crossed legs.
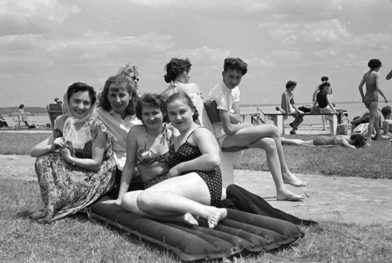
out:
M217 109L234 113L232 107L234 102L240 102L240 89L235 87L230 90L222 80L210 91L209 97L215 100ZM221 122L212 123L212 127L217 138L225 135Z

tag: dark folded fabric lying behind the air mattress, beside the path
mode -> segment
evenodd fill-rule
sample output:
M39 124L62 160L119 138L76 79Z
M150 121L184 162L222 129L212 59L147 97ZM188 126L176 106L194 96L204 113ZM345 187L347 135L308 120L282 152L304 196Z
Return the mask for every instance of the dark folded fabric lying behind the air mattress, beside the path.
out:
M300 219L283 212L282 210L276 209L260 196L252 194L248 190L234 184L229 185L226 188L226 200L220 201L220 207L277 218L296 225L317 224L316 221Z

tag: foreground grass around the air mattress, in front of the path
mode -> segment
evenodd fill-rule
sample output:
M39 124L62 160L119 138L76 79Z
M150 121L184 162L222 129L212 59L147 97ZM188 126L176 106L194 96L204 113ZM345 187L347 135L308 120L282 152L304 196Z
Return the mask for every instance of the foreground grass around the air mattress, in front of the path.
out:
M162 247L82 213L37 224L28 217L41 205L37 183L4 180L0 192L0 262L178 262ZM392 262L391 228L319 221L303 229L305 238L291 246L223 262Z

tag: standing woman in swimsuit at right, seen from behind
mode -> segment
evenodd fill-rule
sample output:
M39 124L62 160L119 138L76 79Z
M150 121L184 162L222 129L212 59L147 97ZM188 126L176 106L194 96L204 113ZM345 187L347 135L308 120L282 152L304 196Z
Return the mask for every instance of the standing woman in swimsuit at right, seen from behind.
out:
M380 70L380 67L382 67L381 61L379 59L371 59L368 62L368 67L370 67L370 70L363 75L361 83L359 83L359 93L361 93L362 102L365 103L365 106L369 109L370 112L367 140L370 141L373 127L374 129L376 129L377 140L381 140L382 135L380 132L380 127L378 125L379 116L377 114L378 93L383 96L385 103L388 103L387 98L384 96L384 93L381 91L379 86L380 74L378 73L378 71ZM363 84L365 83L366 93L364 95Z

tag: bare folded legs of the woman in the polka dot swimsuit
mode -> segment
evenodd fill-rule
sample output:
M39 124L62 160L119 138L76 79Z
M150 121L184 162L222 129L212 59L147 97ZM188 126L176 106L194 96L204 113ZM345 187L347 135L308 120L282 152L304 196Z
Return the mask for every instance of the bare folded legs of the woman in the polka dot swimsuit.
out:
M124 201L132 205L123 198ZM212 229L226 218L227 210L212 207L210 203L207 184L194 172L162 181L140 192L136 198L138 209L149 215L168 217L189 213L206 219Z

